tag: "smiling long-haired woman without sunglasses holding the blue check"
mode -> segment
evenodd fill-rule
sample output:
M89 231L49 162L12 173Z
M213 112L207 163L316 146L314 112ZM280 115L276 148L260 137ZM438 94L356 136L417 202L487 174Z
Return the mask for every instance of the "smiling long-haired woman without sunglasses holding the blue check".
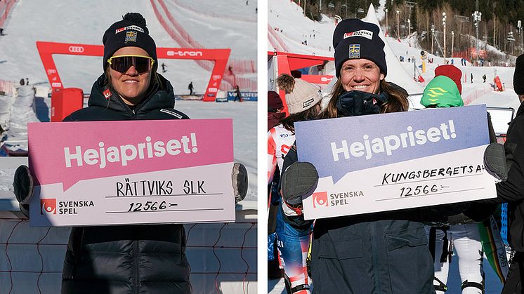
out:
M407 111L406 91L385 81L379 27L342 20L333 47L338 80L320 119ZM292 149L284 159L281 183L282 199L296 212L302 196L313 192L318 174L313 164L294 161ZM312 222L300 213L286 216L297 227ZM433 260L421 220L417 209L317 219L310 261L313 293L435 293Z

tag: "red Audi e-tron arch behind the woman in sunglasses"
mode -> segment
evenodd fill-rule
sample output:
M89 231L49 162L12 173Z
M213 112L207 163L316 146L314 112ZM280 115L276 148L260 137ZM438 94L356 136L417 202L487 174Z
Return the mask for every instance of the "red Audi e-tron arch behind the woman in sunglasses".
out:
M37 41L37 48L53 91L64 88L53 54L103 56L104 46ZM157 48L157 58L211 60L215 66L207 84L204 101L214 101L231 49Z

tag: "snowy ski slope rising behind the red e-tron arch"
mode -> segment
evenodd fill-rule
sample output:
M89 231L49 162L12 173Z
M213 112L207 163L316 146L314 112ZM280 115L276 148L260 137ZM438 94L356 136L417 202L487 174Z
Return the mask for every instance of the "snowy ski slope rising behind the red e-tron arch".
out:
M0 79L19 81L27 77L30 83L48 85L36 41L101 45L105 29L127 12L142 13L157 47L181 47L157 20L152 7L154 4L162 11L161 3L199 44L206 48L231 48L230 60L256 60L256 0L251 0L249 6L242 1L221 1L221 5L214 5L214 16L207 14L209 5L204 0L23 0L15 4L4 26L6 36L0 36ZM249 21L235 20L235 15ZM103 70L101 57L53 58L64 85L82 88L84 93L91 91L93 81ZM192 60L159 60L162 62L167 65L164 76L176 94L187 94L190 81L196 93L204 93L211 72Z

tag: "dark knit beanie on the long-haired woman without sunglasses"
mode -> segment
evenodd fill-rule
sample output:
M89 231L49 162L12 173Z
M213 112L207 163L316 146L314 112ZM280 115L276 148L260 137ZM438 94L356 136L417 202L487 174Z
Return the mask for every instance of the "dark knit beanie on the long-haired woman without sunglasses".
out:
M379 27L356 18L348 18L336 25L333 33L333 48L335 48L336 77L340 77L340 69L346 60L364 58L375 62L386 76L386 53L384 41L380 39Z

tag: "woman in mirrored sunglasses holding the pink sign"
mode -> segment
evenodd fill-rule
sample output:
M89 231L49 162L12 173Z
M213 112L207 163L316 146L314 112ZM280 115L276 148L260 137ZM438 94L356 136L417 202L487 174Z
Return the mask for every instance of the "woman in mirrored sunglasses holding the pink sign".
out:
M140 13L127 13L114 22L103 44L104 73L93 84L89 107L64 121L189 119L173 109L173 87L157 73L155 41ZM235 167L232 176L247 185L242 175L245 168L238 163ZM18 168L13 186L22 212L29 217L32 178L27 166ZM237 194L245 196L244 188ZM185 242L180 224L72 227L62 293L189 294Z

